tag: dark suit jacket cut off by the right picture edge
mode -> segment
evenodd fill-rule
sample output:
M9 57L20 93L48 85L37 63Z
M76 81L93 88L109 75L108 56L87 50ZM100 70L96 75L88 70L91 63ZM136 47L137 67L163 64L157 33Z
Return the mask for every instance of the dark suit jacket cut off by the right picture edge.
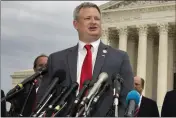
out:
M176 90L166 93L161 110L161 117L176 117Z

